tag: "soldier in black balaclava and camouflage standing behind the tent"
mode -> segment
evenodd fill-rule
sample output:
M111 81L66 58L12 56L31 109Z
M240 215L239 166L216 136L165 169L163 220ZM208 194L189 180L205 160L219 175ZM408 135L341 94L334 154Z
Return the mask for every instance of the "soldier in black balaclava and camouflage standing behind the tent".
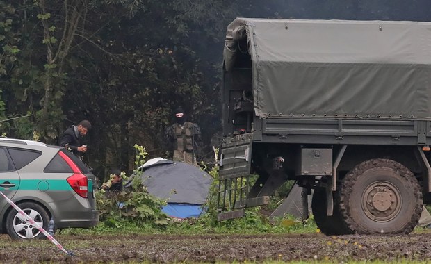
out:
M175 123L165 131L166 140L173 150L172 160L197 165L196 151L200 144L200 128L188 122L182 108L174 112Z

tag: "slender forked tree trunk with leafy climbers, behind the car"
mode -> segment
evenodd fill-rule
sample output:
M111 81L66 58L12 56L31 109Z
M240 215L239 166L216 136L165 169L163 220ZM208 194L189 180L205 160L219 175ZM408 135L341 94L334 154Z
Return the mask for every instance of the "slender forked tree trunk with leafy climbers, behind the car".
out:
M46 132L51 128L49 125L56 123L54 120L58 119L58 115L52 115L52 113L56 113L61 107L66 58L74 44L76 32L78 29L83 31L85 28L87 1L63 0L59 1L58 5L54 5L53 1L47 4L45 0L33 1L33 3L40 10L37 17L42 22L44 35L42 43L46 45L44 95L41 100L42 109L38 128L41 133L45 131L42 135L47 135Z

